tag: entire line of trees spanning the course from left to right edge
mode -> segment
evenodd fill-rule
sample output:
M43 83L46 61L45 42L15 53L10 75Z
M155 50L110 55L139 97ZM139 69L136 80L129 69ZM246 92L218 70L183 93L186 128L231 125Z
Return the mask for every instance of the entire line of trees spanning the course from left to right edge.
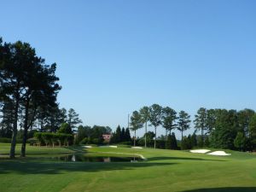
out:
M57 95L61 85L58 84L59 78L55 71L56 63L46 64L30 44L20 41L3 43L0 38L0 137L11 140L10 158L15 157L18 135L22 143L20 156L24 157L27 139L34 135L35 130L72 135L73 130L82 123L73 108L68 111L60 108ZM162 127L166 131L165 142L172 143L172 146L177 145L172 131L178 130L182 135L183 148L195 146L192 144L195 140L200 146L212 148L242 151L256 148L256 114L252 109L236 111L200 108L193 121L195 132L199 132L200 136L193 134L183 137L183 132L192 127L191 123L189 113L153 104L134 111L128 129L118 127L110 143L131 143L131 130L134 131L133 144L136 145L137 130L144 127L145 134L139 143L148 147L154 138L154 148L157 145L163 146L163 143L157 143L157 130ZM148 126L153 126L154 132L148 131ZM110 133L112 131L109 127L79 126L73 143L102 143L102 134ZM52 137L50 140L54 141L56 135ZM44 144L46 140L42 140Z

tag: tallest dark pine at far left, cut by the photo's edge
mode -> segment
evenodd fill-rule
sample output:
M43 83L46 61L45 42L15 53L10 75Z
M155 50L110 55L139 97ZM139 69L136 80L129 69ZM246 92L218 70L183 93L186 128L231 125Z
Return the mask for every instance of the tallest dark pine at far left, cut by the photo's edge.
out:
M14 103L14 121L10 158L15 158L15 146L18 127L18 112L21 98L26 92L27 69L33 64L35 50L29 44L20 41L15 44L0 42L1 97Z

